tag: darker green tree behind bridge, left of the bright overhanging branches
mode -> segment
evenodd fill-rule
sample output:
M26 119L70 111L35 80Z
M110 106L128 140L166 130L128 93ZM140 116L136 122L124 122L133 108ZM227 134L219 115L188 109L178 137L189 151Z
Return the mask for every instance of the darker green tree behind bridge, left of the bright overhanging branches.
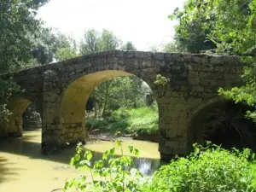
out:
M212 0L187 0L183 10L175 9L169 16L178 20L175 26L175 40L178 49L198 53L201 50L215 49L216 45L207 37L215 26L215 13L207 14Z

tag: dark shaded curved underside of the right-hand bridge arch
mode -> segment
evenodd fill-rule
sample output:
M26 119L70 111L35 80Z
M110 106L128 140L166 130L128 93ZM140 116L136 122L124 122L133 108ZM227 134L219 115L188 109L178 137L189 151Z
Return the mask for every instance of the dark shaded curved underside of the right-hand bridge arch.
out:
M192 148L193 143L203 144L204 141L204 125L207 123L207 115L212 112L214 108L224 107L226 101L221 97L216 97L201 105L191 113L188 119L188 138L189 149Z

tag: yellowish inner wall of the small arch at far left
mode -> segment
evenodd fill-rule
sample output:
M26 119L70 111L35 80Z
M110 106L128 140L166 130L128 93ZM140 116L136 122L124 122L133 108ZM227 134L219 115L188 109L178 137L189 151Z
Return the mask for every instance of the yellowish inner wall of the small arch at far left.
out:
M3 137L21 137L23 131L22 114L32 103L31 100L22 97L11 97L7 108L11 113L7 119L3 120L3 129L0 133Z

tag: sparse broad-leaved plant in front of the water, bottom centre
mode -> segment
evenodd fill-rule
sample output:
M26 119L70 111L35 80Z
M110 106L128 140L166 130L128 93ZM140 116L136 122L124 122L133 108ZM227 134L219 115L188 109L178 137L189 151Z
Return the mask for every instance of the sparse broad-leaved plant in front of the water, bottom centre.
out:
M120 150L121 156L114 157L114 153ZM137 148L129 146L131 154L138 156ZM70 165L85 172L78 178L73 178L65 183L64 191L75 189L82 191L101 191L101 192L136 192L143 191L143 175L136 168L130 156L123 155L122 142L116 141L116 147L110 148L102 154L102 160L92 162L93 154L84 150L81 144L77 147L77 154L70 160ZM86 174L87 173L87 174Z

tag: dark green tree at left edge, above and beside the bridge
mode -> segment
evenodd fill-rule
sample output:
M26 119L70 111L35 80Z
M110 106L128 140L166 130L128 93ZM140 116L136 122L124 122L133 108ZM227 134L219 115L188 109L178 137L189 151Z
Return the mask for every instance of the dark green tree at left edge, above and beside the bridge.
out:
M47 0L0 0L0 73L33 65L33 39L42 23L35 19L35 15L38 8L47 2ZM9 114L6 108L9 96L19 87L11 79L1 79L0 87L0 121L2 121Z

